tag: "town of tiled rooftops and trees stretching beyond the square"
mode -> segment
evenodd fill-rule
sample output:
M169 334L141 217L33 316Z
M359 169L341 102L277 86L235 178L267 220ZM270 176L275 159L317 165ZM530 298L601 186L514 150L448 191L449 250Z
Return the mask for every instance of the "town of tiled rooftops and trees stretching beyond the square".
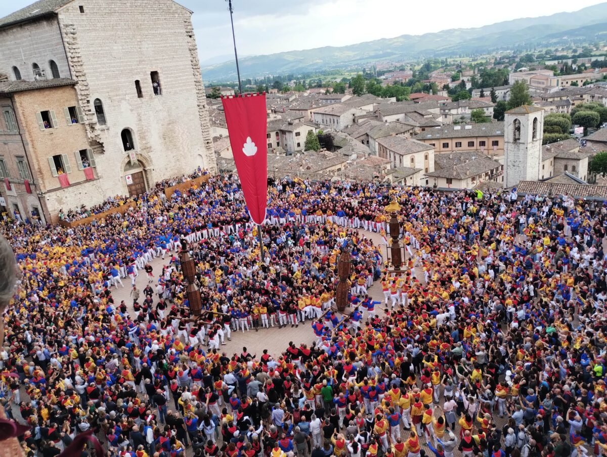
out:
M339 80L245 80L243 90L267 92L274 177L453 189L523 181L519 190L548 193L605 183L605 54L603 46L588 46L379 64ZM234 161L220 96L235 92L206 88L217 164L225 171Z

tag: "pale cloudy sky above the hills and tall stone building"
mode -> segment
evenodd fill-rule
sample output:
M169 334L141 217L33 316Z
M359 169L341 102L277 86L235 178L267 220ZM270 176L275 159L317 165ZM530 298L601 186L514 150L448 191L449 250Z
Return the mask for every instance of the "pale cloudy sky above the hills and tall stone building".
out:
M137 0L124 0L137 1ZM0 0L0 17L33 3ZM232 35L225 0L178 0L194 12L201 63L232 58ZM233 0L239 55L259 55L322 46L344 46L408 33L480 27L521 17L575 11L600 0ZM496 14L496 13L499 14ZM573 24L572 24L573 25Z

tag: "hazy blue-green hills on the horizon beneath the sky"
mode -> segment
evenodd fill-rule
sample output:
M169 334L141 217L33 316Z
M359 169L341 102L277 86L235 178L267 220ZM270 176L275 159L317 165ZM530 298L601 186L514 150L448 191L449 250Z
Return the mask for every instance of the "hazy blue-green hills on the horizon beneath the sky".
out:
M607 32L607 3L583 8L572 13L557 13L539 18L521 18L497 22L474 29L449 29L424 35L401 35L349 46L326 46L316 49L294 50L270 55L242 58L242 78L304 73L316 70L347 68L367 62L418 58L422 56L450 56L471 52L487 52L507 47L552 45L568 39L596 39ZM579 27L585 24L584 27ZM204 67L205 81L236 79L234 61Z

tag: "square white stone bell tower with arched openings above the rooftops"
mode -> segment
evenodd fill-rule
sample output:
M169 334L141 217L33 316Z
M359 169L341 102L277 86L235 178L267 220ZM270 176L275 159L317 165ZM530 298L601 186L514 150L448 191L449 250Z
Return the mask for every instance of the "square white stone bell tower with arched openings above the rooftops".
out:
M537 181L541 169L544 110L523 105L504 116L504 187Z

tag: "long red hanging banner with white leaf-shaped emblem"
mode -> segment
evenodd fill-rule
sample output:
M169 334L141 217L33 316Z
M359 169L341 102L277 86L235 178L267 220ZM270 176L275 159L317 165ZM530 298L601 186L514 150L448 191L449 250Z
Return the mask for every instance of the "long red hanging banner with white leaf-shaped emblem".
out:
M251 219L262 224L268 201L265 93L222 97L234 163Z

